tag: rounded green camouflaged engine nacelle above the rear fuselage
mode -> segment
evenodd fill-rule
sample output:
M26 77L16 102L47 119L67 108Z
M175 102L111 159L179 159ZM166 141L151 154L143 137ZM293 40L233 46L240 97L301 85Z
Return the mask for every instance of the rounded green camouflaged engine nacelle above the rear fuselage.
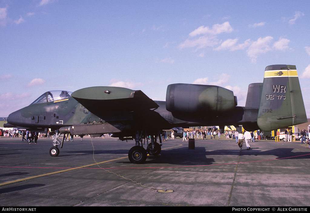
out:
M213 85L171 84L166 93L166 109L172 113L223 113L237 106L231 90Z

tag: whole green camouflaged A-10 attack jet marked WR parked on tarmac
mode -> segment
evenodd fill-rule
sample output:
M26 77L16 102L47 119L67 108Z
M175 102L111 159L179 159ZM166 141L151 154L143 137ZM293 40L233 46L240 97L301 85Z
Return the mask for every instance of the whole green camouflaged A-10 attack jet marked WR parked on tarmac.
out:
M162 130L175 127L242 125L248 131L272 131L307 122L296 66L266 67L263 83L249 85L246 106L238 107L233 92L213 85L168 85L166 101L153 101L140 90L89 87L73 93L49 91L28 107L11 113L7 126L47 133L55 131L51 156L59 154L61 133L113 133L135 140L128 153L132 163L144 163L147 154L161 151ZM11 125L10 125L11 124ZM151 136L146 148L142 140Z

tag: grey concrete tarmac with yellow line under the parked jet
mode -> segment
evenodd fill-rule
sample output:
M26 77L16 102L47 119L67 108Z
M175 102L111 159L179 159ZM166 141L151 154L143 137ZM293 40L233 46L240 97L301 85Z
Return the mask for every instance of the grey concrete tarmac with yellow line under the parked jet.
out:
M51 157L38 143L0 138L0 206L309 206L310 149L300 141L195 138L162 142L159 156L132 164L134 141L74 137ZM145 142L146 144L146 142ZM144 145L146 147L146 145ZM60 147L59 147L60 148ZM3 209L2 209L3 211ZM275 209L277 211L277 209Z

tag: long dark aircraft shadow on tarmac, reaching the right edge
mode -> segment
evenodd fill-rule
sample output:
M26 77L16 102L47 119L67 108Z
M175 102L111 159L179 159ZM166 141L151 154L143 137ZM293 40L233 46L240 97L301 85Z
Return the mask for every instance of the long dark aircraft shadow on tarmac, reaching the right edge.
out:
M237 146L237 145L236 145ZM214 158L208 158L207 156L214 155L270 155L275 156L274 159L309 159L310 150L308 152L292 152L293 148L276 148L267 151L261 151L259 148L251 148L251 150L236 150L232 149L221 149L221 150L211 150L207 151L205 147L195 147L195 149L188 149L188 147L181 147L172 150L162 150L160 156L149 155L147 157L146 163L165 163L165 164L177 164L177 165L211 165L215 162ZM128 154L128 150L80 150L80 151L66 151L66 153L72 154L93 154L100 158L100 154ZM68 154L70 155L70 154ZM67 155L67 156L68 156ZM64 153L61 156L66 156ZM129 160L117 161L117 163L131 163Z

